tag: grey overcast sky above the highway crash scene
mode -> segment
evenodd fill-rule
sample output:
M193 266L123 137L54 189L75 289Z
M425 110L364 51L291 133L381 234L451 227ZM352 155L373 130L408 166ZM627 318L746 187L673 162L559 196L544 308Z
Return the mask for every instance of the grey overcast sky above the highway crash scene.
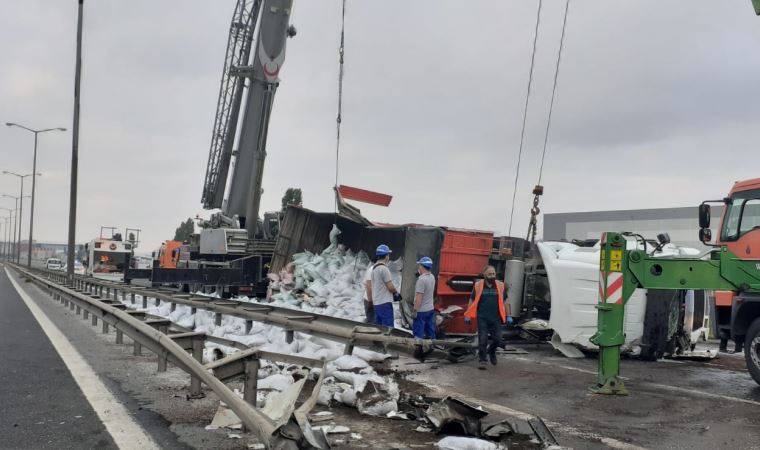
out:
M0 122L70 129L77 2L0 3ZM85 3L77 241L140 228L148 252L207 214L236 0ZM332 211L340 1L294 3L263 209L293 186L306 207ZM348 0L340 182L393 195L389 208L359 205L370 219L506 232L537 5ZM515 235L529 220L563 8L544 1ZM749 0L571 0L542 212L691 206L760 176L758 52ZM0 168L30 173L32 144L0 128ZM40 136L39 241L66 241L70 152L70 132ZM0 193L18 189L0 176Z

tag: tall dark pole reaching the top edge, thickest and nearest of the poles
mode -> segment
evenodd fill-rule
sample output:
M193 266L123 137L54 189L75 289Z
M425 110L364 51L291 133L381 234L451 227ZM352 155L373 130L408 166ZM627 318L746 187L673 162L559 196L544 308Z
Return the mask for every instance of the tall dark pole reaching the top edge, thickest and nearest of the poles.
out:
M71 187L69 192L69 241L66 255L66 277L74 281L74 243L77 227L77 173L79 170L79 87L82 80L82 19L84 0L79 0L77 15L77 56L74 69L74 123L71 127Z

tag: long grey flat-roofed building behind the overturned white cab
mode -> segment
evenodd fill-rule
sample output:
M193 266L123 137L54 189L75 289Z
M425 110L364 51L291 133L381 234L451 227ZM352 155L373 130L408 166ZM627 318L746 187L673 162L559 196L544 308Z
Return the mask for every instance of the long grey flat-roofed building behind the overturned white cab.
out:
M712 207L713 239L717 236L722 212L722 206ZM706 248L697 236L696 206L544 214L543 222L545 241L599 239L605 231L631 231L656 239L659 233L666 232L674 244Z

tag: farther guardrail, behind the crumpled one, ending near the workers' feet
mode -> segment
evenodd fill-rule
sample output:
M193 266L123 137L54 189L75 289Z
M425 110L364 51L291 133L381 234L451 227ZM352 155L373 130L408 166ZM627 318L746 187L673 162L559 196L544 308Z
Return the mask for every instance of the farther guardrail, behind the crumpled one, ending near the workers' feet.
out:
M37 269L50 279L58 283L66 283L66 275L53 271ZM246 321L246 333L251 330L252 322L262 322L284 328L286 340L293 341L295 332L307 333L320 336L345 344L345 354L353 353L354 346L383 346L386 349L406 353L414 356L415 352L422 348L424 351L446 349L446 356L455 360L453 355L471 351L476 347L472 342L457 342L441 339L416 339L407 332L397 328L380 325L369 325L364 322L356 322L322 314L304 312L290 308L278 307L265 303L251 303L237 300L219 299L213 297L181 294L169 289L149 289L145 287L131 286L108 280L99 280L93 277L77 276L74 278L74 286L86 292L95 292L104 298L118 299L121 295L126 301L136 304L136 296L142 297L142 307L147 308L150 299L156 306L160 303L169 302L172 311L176 305L189 306L192 313L197 309L203 309L215 313L215 323L222 323L222 316L229 315L239 317Z

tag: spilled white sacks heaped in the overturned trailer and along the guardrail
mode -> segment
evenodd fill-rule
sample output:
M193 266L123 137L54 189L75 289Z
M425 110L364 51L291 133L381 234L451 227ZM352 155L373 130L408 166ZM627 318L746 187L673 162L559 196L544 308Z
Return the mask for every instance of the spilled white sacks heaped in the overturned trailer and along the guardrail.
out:
M301 253L294 257L294 263L278 277L273 277L276 288L271 295L271 302L281 306L329 314L336 317L358 320L364 317L363 276L370 264L363 252L358 254L346 250L337 244L337 228L331 233L331 245L320 255ZM400 283L400 262L394 264L394 282ZM289 275L292 274L292 278ZM279 292L277 291L279 289ZM203 295L197 293L196 295ZM142 304L137 296L134 308ZM266 303L266 300L238 300ZM325 382L319 395L319 404L328 406L333 402L354 406L363 414L384 416L396 411L399 397L398 386L390 377L380 376L370 366L370 362L379 362L388 355L354 348L353 355L343 355L344 345L327 339L304 333L295 333L293 342L285 340L285 331L274 325L254 322L250 333L245 332L245 320L237 317L223 316L221 325L214 323L214 314L197 310L195 314L189 307L177 305L171 311L171 305L163 302L155 306L149 302L147 312L166 317L178 325L205 332L211 336L222 337L241 342L248 346L266 351L304 356L329 361L325 367ZM204 349L204 362L209 362L222 354L236 351L219 344L207 343ZM258 405L263 407L271 393L282 392L294 383L293 374L300 372L300 367L289 364L262 361L259 370ZM319 370L312 371L317 377ZM242 394L241 394L242 395Z

